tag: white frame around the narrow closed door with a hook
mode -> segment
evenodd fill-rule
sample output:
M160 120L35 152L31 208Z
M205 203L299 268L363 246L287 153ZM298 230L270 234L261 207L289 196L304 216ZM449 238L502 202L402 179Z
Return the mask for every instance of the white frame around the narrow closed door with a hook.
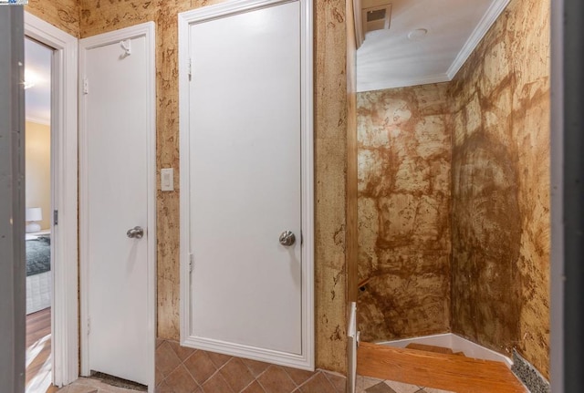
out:
M156 343L156 72L154 62L154 23L147 22L136 26L122 28L110 33L90 36L79 40L79 268L80 268L80 302L81 302L81 375L89 375L89 351L88 351L88 315L89 302L87 291L83 288L89 283L89 255L87 254L89 244L88 233L88 135L87 135L87 107L83 97L83 75L86 67L86 53L94 47L103 47L110 44L117 44L122 40L144 36L146 38L146 57L148 58L145 67L148 67L148 102L151 113L147 118L148 127L145 129L147 135L147 162L148 162L148 226L146 228L148 240L148 328L150 334L148 346L150 358L148 359L151 369L151 380L148 383L148 391L154 391L154 352Z

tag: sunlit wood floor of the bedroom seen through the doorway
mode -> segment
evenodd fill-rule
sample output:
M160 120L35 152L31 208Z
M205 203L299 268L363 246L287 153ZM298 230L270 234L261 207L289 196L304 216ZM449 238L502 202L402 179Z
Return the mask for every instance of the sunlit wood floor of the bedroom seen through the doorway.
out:
M26 393L53 393L51 309L26 315Z

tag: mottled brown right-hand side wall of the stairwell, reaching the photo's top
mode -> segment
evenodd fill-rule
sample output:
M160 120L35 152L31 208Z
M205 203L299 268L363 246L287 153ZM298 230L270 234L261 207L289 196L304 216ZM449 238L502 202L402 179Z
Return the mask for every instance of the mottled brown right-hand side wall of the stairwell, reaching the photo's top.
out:
M512 0L449 86L453 331L549 376L549 0Z

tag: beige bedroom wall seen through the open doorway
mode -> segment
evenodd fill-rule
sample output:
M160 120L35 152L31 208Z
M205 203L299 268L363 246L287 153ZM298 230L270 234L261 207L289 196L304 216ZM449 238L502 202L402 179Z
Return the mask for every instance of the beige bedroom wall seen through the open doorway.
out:
M26 207L43 210L41 229L50 227L51 211L51 129L26 121Z

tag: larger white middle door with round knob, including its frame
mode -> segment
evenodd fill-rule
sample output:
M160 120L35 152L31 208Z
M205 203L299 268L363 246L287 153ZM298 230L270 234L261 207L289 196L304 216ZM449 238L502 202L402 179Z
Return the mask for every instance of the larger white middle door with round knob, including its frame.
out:
M314 369L311 8L179 15L183 346Z

